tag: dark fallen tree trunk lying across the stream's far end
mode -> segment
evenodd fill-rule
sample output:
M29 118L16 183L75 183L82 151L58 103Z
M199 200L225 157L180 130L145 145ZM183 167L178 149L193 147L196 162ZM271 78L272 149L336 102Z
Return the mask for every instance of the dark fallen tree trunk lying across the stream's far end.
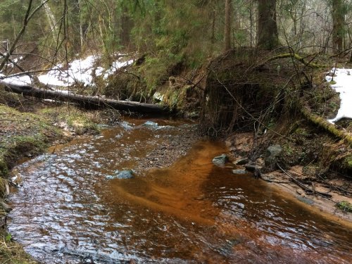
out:
M120 111L140 112L140 113L170 113L170 109L164 106L158 106L151 103L139 103L134 101L119 101L105 99L101 96L84 96L68 92L51 91L31 87L27 85L9 84L1 82L6 91L25 96L33 96L40 99L53 99L58 101L68 101L78 103L84 108L113 108Z

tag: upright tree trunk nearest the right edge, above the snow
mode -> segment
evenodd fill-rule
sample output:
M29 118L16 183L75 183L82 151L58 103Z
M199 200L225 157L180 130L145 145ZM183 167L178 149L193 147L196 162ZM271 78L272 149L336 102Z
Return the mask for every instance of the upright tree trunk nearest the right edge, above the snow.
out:
M332 0L332 48L339 54L344 41L344 6L343 0Z

